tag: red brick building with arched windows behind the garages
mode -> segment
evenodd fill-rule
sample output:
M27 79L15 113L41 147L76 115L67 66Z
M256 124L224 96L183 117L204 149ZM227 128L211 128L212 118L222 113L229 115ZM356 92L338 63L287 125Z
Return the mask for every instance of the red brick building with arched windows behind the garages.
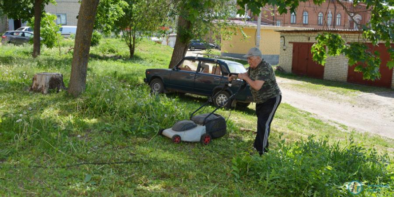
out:
M341 0L349 13L357 23L365 25L368 23L371 12L366 9L366 5L359 4L353 6L353 2ZM360 29L357 27L350 16L346 13L345 8L336 0L326 0L322 5L316 5L312 0L300 2L296 13L280 15L276 7L264 6L262 8L262 24L274 26L292 26L315 29ZM248 11L250 14L250 11ZM257 21L258 16L252 17Z

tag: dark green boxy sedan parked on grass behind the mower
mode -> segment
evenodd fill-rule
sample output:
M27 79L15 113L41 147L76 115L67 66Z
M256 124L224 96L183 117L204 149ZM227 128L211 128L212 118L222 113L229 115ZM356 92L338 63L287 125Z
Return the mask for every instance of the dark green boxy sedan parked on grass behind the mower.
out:
M245 67L237 62L204 57L185 57L172 69L146 69L144 82L153 93L190 93L211 97L228 82L229 73L244 73ZM222 91L213 103L216 106L230 98L239 86ZM224 107L247 107L253 102L249 85Z

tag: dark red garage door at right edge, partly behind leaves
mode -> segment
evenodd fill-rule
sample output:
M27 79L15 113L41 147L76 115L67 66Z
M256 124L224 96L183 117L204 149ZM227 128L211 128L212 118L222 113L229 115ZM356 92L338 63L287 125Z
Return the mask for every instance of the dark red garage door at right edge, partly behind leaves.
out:
M390 60L390 54L387 52L386 46L384 44L379 44L378 46L372 46L372 44L368 44L368 46L373 51L379 51L380 53L380 59L382 60L382 64L380 65L379 68L381 78L375 81L363 80L362 73L354 71L354 68L356 66L362 65L361 63L359 63L354 66L349 66L347 81L349 83L391 88L391 83L393 79L393 68L389 69L389 67L386 66L387 62Z

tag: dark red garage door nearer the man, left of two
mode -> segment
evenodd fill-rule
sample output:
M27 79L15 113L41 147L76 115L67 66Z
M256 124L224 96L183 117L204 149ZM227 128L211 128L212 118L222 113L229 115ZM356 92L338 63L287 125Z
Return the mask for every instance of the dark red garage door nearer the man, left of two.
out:
M313 43L293 42L292 72L323 79L324 66L318 65L312 60L312 45Z

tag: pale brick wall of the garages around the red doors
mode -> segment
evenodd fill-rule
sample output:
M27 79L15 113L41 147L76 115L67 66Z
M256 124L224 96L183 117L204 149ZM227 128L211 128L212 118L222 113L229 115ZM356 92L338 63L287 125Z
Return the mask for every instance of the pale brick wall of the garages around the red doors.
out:
M283 37L281 37L280 45L280 56L279 66L281 66L286 72L292 72L292 61L293 61L293 44L289 42L308 42L316 43L315 37L318 33L307 33L307 32L282 32L281 36L285 37L285 47L283 46ZM342 38L347 42L356 42L361 38L359 33L339 33ZM333 81L347 81L348 75L348 59L343 56L328 56L326 65L324 66L324 79ZM394 88L394 69L392 88Z

